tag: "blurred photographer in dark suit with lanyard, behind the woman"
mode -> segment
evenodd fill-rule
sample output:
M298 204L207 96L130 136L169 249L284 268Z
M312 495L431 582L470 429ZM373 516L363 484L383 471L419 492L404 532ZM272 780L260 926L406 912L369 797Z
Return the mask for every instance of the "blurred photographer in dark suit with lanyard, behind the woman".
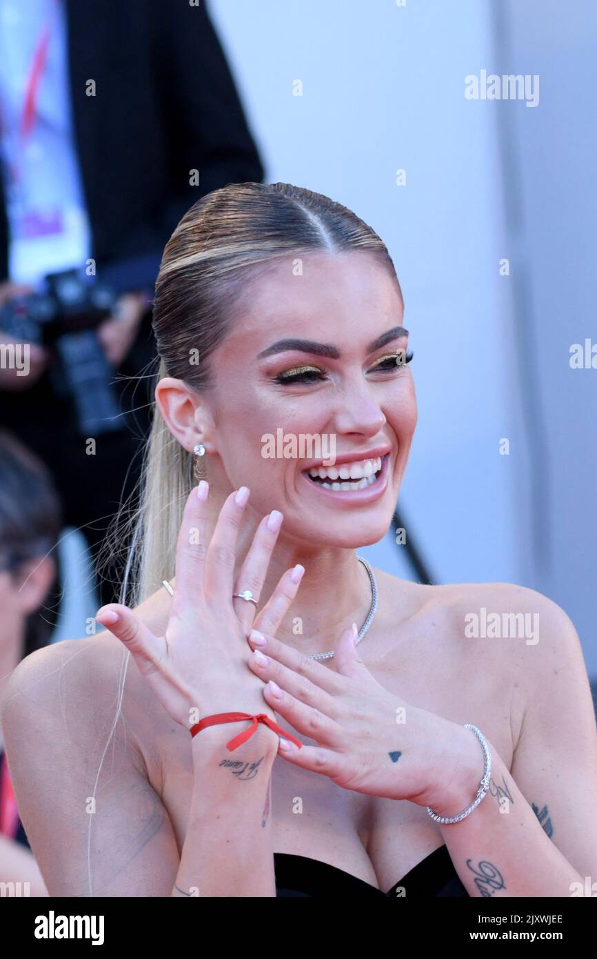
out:
M0 306L48 273L87 267L101 280L159 258L196 199L264 176L205 4L189 0L30 0L5 12L0 150ZM138 478L148 427L150 284L131 278L121 292L94 333L120 410L97 436L57 390L56 352L32 342L18 375L0 330L0 424L49 466L64 523L94 552Z

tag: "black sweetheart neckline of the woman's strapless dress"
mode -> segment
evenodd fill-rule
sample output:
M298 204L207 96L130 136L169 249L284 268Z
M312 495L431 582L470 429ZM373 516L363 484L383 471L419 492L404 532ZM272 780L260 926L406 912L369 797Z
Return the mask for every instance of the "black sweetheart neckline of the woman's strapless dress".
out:
M363 879L345 873L319 859L305 855L274 853L276 896L321 897L330 896L377 896L382 899L435 899L437 897L469 896L460 881L446 845L425 856L421 862L399 879L387 893ZM402 896L397 897L399 886Z

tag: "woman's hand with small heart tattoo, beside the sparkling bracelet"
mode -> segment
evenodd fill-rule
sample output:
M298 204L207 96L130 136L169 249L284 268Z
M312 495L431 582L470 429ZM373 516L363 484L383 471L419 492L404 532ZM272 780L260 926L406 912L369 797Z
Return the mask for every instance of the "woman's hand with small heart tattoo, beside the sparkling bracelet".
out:
M259 635L265 644L254 642ZM266 703L316 743L284 748L281 740L279 755L345 789L406 799L439 815L461 812L483 775L474 733L382 687L360 659L355 637L352 628L340 636L333 671L251 631L249 667L266 683Z

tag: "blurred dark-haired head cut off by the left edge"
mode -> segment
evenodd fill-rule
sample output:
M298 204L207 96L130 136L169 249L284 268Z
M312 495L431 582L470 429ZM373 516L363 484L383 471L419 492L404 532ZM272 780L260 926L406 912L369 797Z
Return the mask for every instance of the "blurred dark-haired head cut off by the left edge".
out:
M56 586L60 506L44 464L0 430L0 657L2 676L53 628L46 600Z

